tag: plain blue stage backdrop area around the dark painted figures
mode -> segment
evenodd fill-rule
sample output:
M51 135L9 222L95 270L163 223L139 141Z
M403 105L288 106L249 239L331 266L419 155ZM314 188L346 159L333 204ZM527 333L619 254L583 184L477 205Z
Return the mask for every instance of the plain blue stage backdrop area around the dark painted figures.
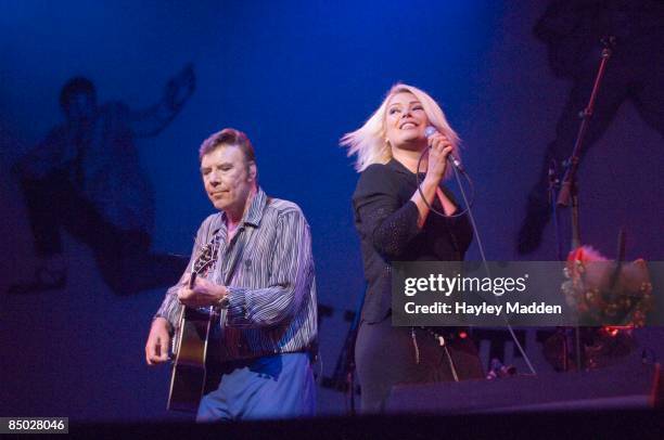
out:
M100 102L140 108L193 63L196 90L182 112L158 137L136 141L156 200L153 248L190 251L197 225L212 212L197 147L222 127L245 131L264 189L296 202L310 223L319 301L329 308L318 368L331 377L349 325L344 314L356 309L365 286L349 202L357 174L339 139L369 117L394 82L424 89L463 140L487 257L525 258L515 251L515 237L526 195L572 85L552 74L547 48L533 35L546 5L1 2L0 292L34 270L25 206L10 168L62 121L62 85L84 75ZM628 258L662 259L663 157L662 135L625 102L580 168L584 243L614 257L624 225ZM179 417L165 412L168 368L144 364L144 340L164 292L114 296L86 245L67 237L65 255L65 289L0 296L0 415ZM478 258L476 244L468 258ZM556 259L551 225L527 258ZM528 352L547 368L535 332L526 334ZM663 339L659 328L641 335L660 355ZM482 349L487 357L487 346ZM506 361L524 371L512 349L508 344ZM321 386L320 409L343 413L344 394Z

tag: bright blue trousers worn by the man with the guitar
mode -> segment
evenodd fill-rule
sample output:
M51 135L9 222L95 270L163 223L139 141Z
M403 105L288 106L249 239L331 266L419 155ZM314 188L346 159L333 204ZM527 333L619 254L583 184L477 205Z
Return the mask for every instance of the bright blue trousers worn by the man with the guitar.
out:
M235 362L219 387L201 400L196 422L293 418L316 412L316 384L307 353Z

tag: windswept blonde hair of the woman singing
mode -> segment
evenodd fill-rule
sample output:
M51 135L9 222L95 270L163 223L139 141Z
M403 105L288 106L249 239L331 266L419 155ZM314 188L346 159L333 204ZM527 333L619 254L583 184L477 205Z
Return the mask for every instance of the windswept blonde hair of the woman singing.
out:
M365 125L344 134L340 141L342 146L348 147L348 156L357 154L356 171L361 172L371 164L386 164L392 159L392 151L385 140L385 116L387 102L397 93L412 93L420 101L429 118L429 124L449 140L452 144L452 153L456 157L459 157L459 135L447 122L445 113L443 113L438 103L417 87L397 82L392 86L380 107L367 119ZM450 173L451 167L447 167L445 177L449 177Z

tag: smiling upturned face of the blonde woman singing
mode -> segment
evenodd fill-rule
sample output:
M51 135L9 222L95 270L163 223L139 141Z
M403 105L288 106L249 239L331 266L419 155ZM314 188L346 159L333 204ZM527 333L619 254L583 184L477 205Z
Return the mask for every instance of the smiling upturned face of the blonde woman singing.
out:
M409 92L394 94L387 102L385 138L392 147L420 150L426 146L429 118L422 103Z

